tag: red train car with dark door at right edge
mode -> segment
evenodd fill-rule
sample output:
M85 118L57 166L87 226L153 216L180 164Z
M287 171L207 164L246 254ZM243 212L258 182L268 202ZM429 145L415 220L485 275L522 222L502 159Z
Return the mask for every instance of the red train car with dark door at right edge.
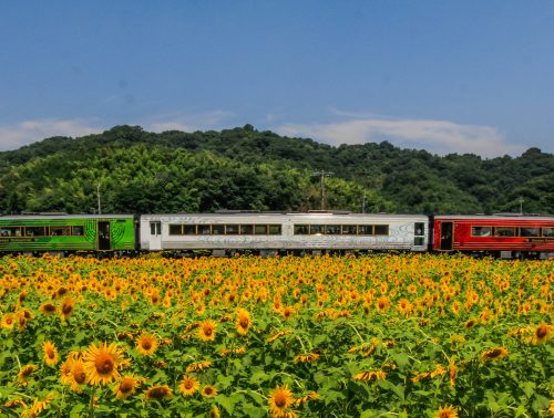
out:
M554 217L435 216L433 250L501 258L554 257Z

